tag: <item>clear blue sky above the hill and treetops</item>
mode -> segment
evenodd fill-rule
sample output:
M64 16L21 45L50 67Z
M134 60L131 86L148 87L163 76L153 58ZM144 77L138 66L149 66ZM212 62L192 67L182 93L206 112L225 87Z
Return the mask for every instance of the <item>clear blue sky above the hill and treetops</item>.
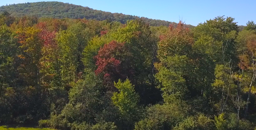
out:
M0 0L0 6L42 0ZM43 0L53 1L53 0ZM256 22L256 0L56 0L95 10L144 16L151 19L179 22L197 26L216 16L235 18L238 25Z

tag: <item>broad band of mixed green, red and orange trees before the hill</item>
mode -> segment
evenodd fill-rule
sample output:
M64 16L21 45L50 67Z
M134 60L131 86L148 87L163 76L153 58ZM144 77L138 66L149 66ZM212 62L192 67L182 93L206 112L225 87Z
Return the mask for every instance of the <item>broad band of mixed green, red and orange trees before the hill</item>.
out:
M234 20L191 28L4 11L0 126L255 130L256 24Z

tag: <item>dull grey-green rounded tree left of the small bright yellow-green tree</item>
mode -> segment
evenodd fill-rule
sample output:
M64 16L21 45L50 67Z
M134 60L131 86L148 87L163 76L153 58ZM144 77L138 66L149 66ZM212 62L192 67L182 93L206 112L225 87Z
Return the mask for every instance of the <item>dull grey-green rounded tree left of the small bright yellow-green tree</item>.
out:
M85 81L78 81L69 92L69 103L61 115L69 122L94 122L94 116L101 109L101 100L93 76L88 75ZM82 116L83 115L83 116Z

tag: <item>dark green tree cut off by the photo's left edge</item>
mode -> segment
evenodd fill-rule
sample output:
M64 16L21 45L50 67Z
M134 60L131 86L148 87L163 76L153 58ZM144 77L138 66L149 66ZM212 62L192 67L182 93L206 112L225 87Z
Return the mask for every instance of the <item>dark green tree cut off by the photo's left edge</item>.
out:
M19 44L6 25L0 27L0 121L13 121L16 87L18 87Z

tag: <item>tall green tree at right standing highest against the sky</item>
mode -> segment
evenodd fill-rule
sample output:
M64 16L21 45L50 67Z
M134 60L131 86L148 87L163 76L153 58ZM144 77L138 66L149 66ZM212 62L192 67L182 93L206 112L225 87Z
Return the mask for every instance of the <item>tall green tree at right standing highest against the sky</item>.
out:
M208 86L207 88L210 88L207 90L207 99L208 101L212 101L212 103L216 103L215 101L219 102L217 103L222 104L220 105L220 112L223 110L223 104L225 104L226 109L230 109L233 107L233 96L234 93L229 93L229 97L232 98L226 98L226 103L223 101L223 94L224 92L228 92L227 90L223 90L222 92L216 93L214 89L218 86L217 83L220 83L220 77L216 75L217 70L220 70L220 65L223 65L222 72L219 71L218 73L226 73L226 75L229 78L229 80L224 81L227 86L233 86L236 84L234 82L234 74L233 72L236 71L236 67L239 62L238 58L238 50L237 50L237 37L238 28L236 25L236 22L234 22L234 18L232 17L224 17L224 16L218 16L215 17L213 20L207 20L206 22L199 24L197 27L193 29L194 38L196 39L196 42L194 44L194 49L197 50L197 53L200 55L203 55L203 59L206 59L205 61L207 64L209 64L209 68L207 70L212 70L208 73L207 71L207 84L204 86ZM200 45L200 46L199 46ZM197 56L198 57L198 56ZM206 68L206 66L204 67ZM215 75L213 75L213 69L215 68ZM229 70L229 71L226 71ZM214 80L215 78L215 80ZM214 81L214 83L213 83ZM223 81L223 79L221 79ZM210 86L213 84L212 86ZM217 86L215 86L216 84ZM220 84L219 84L220 85ZM226 87L230 88L230 87ZM234 89L234 87L231 87ZM233 90L232 89L232 90ZM238 91L236 89L236 91ZM229 90L230 91L230 90ZM232 95L232 96L231 96ZM237 94L236 94L237 95ZM227 96L226 96L227 97ZM237 98L237 97L236 97ZM219 100L220 99L220 100ZM232 102L231 102L232 101ZM230 104L230 103L231 104Z

